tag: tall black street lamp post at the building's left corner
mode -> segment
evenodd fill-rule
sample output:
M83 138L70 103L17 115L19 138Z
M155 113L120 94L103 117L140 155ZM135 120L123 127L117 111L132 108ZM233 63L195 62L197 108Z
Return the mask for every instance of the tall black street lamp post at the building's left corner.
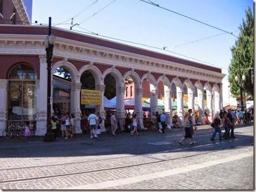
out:
M49 17L49 35L44 40L44 46L46 47L46 63L47 63L47 124L46 134L44 135L44 141L54 141L53 134L51 133L51 63L53 59L53 47L55 37L51 33L51 17Z

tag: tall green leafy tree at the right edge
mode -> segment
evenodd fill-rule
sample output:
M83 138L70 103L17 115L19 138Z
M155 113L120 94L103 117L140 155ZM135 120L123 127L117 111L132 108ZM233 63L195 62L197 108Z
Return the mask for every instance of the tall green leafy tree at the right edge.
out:
M231 47L232 59L229 65L228 81L230 84L230 91L234 97L240 97L240 87L235 80L235 76L240 77L239 64L241 68L241 76L245 75L246 81L243 86L243 97L253 100L253 83L252 83L252 71L246 68L253 68L253 15L252 9L248 7L245 10L246 20L242 20L240 25L240 35L235 42L235 45ZM244 69L244 70L243 70ZM239 81L239 80L238 80Z

